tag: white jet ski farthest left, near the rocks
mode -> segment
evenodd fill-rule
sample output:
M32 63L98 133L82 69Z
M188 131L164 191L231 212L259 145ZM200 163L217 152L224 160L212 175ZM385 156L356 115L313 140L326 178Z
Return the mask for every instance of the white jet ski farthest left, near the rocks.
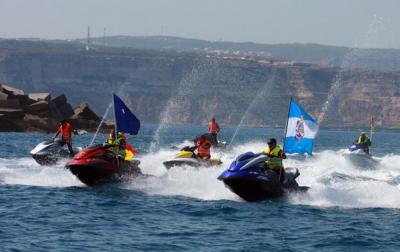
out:
M30 154L32 158L40 165L54 165L61 158L70 158L67 146L61 146L61 139L43 141L39 143ZM77 153L82 148L74 148L74 153Z

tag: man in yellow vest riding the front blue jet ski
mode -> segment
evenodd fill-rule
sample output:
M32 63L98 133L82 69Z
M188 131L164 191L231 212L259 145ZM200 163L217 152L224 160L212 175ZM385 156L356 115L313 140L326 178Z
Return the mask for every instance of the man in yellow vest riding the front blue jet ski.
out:
M276 139L271 138L268 141L268 146L264 149L264 155L268 155L265 162L265 167L268 170L275 172L279 181L283 181L284 168L282 160L286 158L281 146L276 144Z

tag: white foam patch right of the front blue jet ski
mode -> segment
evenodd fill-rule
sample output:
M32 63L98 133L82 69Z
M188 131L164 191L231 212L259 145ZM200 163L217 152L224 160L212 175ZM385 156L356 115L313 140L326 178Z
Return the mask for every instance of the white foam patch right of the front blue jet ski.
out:
M374 167L357 167L340 151L324 151L303 162L290 160L301 172L299 184L310 187L306 194L291 195L290 201L321 207L400 208L400 167L394 160L400 156L383 157Z

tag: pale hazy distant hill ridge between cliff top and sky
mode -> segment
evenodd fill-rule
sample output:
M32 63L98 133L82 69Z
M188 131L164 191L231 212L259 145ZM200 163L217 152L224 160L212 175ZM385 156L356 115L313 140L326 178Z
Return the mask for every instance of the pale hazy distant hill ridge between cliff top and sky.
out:
M85 40L80 40L84 42ZM400 49L355 49L318 44L259 44L186 39L170 36L111 36L93 38L93 42L108 46L151 50L174 50L216 54L237 54L267 57L276 60L295 60L375 70L400 70Z

